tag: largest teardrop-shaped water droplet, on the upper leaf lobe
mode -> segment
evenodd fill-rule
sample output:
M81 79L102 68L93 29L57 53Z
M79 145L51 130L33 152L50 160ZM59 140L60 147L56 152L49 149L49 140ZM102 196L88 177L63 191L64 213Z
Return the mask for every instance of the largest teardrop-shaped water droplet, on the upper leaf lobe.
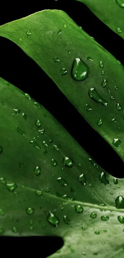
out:
M81 58L75 58L72 65L72 77L76 81L83 81L87 78L89 68Z

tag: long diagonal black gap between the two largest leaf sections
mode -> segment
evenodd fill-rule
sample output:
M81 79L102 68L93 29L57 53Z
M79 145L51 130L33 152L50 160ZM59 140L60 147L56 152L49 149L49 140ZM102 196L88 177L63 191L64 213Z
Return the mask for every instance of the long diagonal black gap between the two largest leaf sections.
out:
M124 177L124 163L119 155L28 55L10 40L0 37L0 56L0 77L30 94L48 109L103 169L114 177Z

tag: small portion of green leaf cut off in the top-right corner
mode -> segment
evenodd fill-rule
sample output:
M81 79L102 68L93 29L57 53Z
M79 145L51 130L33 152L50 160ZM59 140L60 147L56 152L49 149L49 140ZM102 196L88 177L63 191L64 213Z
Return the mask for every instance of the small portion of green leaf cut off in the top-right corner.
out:
M111 30L124 39L124 0L76 0L86 6ZM96 28L97 30L97 28ZM105 35L106 37L106 35ZM106 39L107 40L107 39Z

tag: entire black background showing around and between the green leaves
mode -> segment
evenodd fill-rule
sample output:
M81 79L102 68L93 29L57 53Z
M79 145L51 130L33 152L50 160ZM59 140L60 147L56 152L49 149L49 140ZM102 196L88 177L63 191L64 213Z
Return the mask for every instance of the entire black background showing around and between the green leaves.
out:
M18 2L17 5L12 2L10 4L5 2L5 6L2 3L0 25L44 9L64 10L74 22L81 26L90 36L94 37L99 44L124 65L123 39L95 17L81 2L73 0L33 1L33 3L26 2L26 4L25 2L19 5ZM118 178L124 177L123 162L112 147L91 128L42 69L18 46L2 37L0 37L0 77L29 93L32 98L48 109L108 173ZM4 239L3 237L0 240L4 241ZM15 241L10 241L12 238L7 239L13 249ZM45 237L38 237L37 240L36 238L27 238L20 241L23 254L25 253L24 248L26 248L29 255L31 251L31 253L35 252L35 255L40 253L43 258L63 244L61 239L53 240L53 238L49 238L49 240L46 240ZM16 243L19 249L20 241ZM45 243L46 248L44 248Z

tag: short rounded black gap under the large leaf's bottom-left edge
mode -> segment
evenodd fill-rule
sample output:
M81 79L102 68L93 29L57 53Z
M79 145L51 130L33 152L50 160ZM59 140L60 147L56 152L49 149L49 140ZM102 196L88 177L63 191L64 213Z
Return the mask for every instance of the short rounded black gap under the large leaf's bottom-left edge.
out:
M6 255L10 256L11 252L16 255L17 250L20 257L25 257L26 255L27 257L32 257L35 255L42 258L52 255L62 248L64 244L63 239L56 236L0 236L0 243L1 247L7 247L5 250Z

